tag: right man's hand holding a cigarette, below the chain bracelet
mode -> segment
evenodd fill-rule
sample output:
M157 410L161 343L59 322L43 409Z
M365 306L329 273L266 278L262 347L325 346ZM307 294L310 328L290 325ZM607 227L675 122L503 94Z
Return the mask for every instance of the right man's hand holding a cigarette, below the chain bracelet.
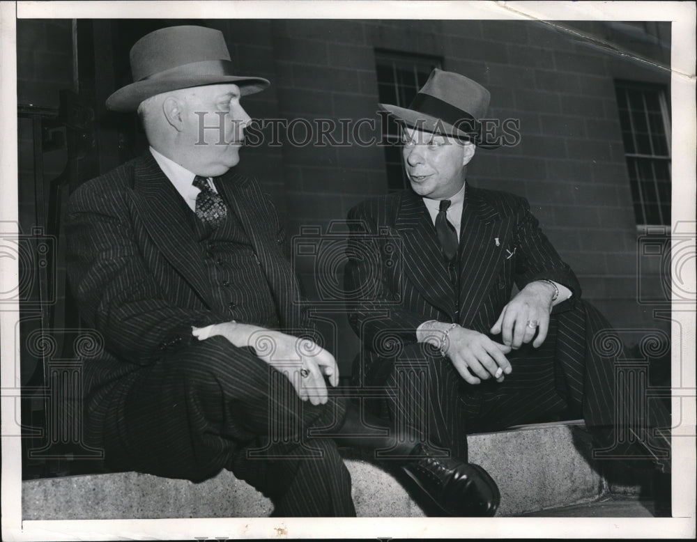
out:
M453 327L444 349L457 372L470 384L479 384L492 376L502 382L503 373L511 373L511 364L505 356L511 351L510 346L496 343L483 333Z

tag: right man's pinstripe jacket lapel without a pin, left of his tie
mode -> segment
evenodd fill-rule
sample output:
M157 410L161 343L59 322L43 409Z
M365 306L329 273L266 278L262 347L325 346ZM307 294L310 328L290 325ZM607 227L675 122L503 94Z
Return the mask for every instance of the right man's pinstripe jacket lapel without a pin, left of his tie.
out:
M431 216L422 199L406 191L395 229L404 240L404 273L434 307L454 316L455 292Z

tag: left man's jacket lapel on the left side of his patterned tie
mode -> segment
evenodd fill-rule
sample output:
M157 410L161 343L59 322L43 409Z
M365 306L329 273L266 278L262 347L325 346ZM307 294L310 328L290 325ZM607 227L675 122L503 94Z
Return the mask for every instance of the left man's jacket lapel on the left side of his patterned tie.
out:
M135 206L155 245L211 306L207 274L199 254L201 249L194 240L181 196L150 153L136 164L134 181Z

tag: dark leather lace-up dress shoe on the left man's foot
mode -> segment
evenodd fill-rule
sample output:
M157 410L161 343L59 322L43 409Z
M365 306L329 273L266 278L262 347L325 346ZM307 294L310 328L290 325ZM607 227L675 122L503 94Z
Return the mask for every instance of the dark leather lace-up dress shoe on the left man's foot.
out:
M401 469L446 516L491 517L498 510L498 486L479 465L436 457L424 444L418 444L412 455L418 458Z

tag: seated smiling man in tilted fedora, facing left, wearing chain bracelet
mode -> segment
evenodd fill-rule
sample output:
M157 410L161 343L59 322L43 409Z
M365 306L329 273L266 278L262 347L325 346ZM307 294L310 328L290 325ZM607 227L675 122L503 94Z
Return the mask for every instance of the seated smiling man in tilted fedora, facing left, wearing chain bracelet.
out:
M615 415L643 405L615 405L614 360L592 345L610 325L528 202L468 183L477 147L496 146L481 123L487 89L436 69L408 107L380 107L401 123L411 187L348 213L357 383L387 387L401 426L462 460L468 433L560 418L583 417L613 447ZM670 427L667 412L648 424ZM667 457L660 435L643 444Z

